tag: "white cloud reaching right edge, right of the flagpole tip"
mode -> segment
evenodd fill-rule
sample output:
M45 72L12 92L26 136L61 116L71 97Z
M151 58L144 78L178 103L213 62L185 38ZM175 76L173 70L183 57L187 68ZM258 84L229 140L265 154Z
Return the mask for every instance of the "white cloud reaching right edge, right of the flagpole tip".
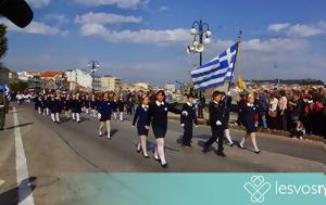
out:
M284 34L290 38L306 38L326 34L326 23L321 21L318 24L271 24L268 30Z

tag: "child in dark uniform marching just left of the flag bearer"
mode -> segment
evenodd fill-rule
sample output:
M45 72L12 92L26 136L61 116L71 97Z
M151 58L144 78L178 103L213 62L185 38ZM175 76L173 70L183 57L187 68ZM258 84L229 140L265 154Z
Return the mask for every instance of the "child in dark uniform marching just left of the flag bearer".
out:
M184 127L183 146L185 148L192 148L191 139L192 139L193 123L196 127L198 127L196 106L192 104L192 102L193 102L193 95L187 94L187 103L183 105L181 115L180 115L180 124L181 127Z

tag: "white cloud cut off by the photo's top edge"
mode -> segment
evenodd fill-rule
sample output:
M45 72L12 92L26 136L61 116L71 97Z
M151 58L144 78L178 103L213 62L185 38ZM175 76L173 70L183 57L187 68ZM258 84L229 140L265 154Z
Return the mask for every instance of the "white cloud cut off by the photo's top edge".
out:
M135 9L138 7L146 7L149 0L75 0L85 5L116 5L122 9Z

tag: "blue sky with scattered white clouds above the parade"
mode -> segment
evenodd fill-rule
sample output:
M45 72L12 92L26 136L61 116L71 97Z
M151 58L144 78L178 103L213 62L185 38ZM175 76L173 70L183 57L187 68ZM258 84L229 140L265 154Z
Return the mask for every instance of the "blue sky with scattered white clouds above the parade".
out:
M209 23L209 61L243 30L237 68L246 79L326 81L324 0L28 0L35 18L25 29L5 20L15 71L87 68L153 86L190 80L199 55L186 53L195 20Z

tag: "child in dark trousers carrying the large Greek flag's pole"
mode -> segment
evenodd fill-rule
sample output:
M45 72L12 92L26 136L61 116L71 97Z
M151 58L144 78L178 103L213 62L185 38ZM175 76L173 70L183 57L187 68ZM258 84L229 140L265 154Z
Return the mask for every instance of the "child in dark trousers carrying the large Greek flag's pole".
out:
M223 140L224 140L224 106L222 103L223 93L220 91L214 91L212 95L212 102L209 106L210 112L210 124L212 129L212 137L204 143L204 148L202 150L203 153L208 153L210 151L210 146L218 139L218 148L217 155L225 157L225 153L223 152Z

